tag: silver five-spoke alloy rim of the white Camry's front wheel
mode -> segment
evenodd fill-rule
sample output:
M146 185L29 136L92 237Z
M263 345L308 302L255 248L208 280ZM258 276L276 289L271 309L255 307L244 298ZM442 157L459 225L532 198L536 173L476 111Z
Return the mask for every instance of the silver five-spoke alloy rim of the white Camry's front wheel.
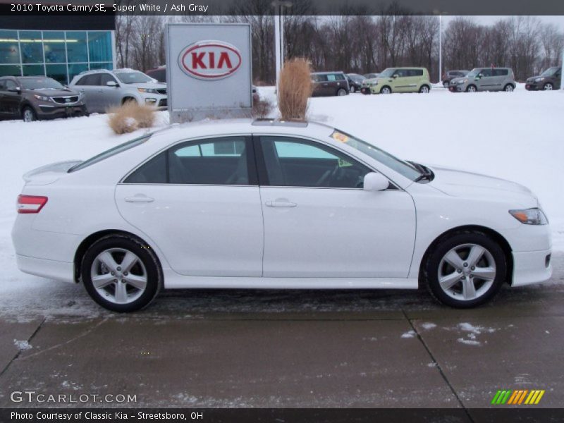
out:
M482 297L495 279L494 256L482 245L458 245L439 263L439 286L455 300L470 301Z

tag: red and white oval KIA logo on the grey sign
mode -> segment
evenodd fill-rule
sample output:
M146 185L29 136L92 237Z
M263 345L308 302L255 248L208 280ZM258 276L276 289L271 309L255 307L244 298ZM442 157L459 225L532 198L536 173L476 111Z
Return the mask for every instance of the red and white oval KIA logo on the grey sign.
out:
M237 47L221 41L200 41L180 51L178 66L192 78L219 80L233 75L241 66Z

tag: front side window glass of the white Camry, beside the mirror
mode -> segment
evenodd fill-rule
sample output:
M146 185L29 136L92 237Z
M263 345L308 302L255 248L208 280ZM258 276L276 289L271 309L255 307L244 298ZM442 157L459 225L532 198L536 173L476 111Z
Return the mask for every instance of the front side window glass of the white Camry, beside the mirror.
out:
M291 137L261 137L268 183L272 186L362 188L371 170L317 142Z

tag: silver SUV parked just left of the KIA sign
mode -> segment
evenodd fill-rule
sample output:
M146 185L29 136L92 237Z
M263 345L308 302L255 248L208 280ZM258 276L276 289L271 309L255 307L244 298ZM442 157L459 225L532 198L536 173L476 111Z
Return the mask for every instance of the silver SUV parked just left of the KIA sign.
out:
M86 107L91 113L104 113L109 107L125 102L166 109L166 84L154 82L153 78L140 71L86 71L76 75L69 86L85 95Z

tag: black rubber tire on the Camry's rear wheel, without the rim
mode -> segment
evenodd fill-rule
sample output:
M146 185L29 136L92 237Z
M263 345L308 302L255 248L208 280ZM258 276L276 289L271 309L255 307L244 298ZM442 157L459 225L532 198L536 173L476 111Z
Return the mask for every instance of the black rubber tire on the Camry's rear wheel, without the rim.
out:
M97 288L94 288L91 278L92 265L94 264L94 260L102 252L109 249L123 249L133 252L133 254L137 255L140 259L142 265L145 266L147 276L145 290L142 291L139 298L132 302L118 304L111 300L106 300L106 298L99 293ZM133 268L131 273L133 274ZM116 278L118 277L119 276L116 276ZM135 312L147 307L147 305L149 305L157 296L162 286L161 267L157 256L154 254L151 247L145 245L140 240L137 240L132 236L118 234L107 235L104 238L97 240L88 248L88 250L86 250L84 257L82 257L82 262L80 263L80 278L92 300L105 309L120 313ZM109 289L111 290L111 288ZM106 297L111 297L111 295L106 293Z

